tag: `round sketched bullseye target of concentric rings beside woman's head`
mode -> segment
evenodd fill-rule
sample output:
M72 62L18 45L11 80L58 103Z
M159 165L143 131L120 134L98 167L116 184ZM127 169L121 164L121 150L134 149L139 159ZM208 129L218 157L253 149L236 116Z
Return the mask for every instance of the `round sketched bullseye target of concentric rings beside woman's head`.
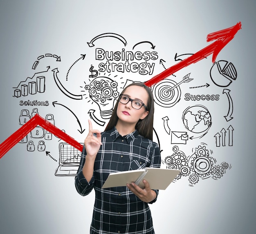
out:
M175 85L177 85L177 83L169 79L164 79L155 84L152 89L155 96L155 103L161 107L172 107L178 103L181 96L180 86L168 92L168 90Z

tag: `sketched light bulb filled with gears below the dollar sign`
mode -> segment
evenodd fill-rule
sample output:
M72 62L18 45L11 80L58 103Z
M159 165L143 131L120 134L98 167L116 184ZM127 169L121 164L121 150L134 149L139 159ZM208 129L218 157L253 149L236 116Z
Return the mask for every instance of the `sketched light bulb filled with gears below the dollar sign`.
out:
M114 102L119 96L117 86L116 81L104 76L95 78L89 85L85 83L85 90L88 90L90 98L99 106L103 119L112 115Z

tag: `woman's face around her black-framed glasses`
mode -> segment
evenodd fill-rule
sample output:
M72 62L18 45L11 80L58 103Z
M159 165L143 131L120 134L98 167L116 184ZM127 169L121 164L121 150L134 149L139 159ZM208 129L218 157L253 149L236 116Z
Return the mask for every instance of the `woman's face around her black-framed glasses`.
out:
M143 87L132 85L126 88L124 95L128 98L138 100L148 105L148 92ZM132 107L131 101L126 104L118 103L117 106L117 117L124 123L130 123L136 125L139 119L144 119L148 115L146 108L142 106L140 109L135 109Z

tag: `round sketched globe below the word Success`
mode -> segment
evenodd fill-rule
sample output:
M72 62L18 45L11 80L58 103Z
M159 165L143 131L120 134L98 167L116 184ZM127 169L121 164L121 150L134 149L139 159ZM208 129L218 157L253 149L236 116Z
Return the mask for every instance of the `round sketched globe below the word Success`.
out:
M211 127L211 114L202 105L188 107L182 115L184 126L193 133L202 133Z

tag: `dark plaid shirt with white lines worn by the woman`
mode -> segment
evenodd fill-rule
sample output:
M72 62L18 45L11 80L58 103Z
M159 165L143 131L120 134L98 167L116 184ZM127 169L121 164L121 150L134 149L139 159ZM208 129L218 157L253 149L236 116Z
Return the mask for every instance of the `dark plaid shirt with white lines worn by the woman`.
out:
M141 201L126 186L101 189L111 172L144 167L160 167L161 157L157 143L142 137L135 130L121 136L114 127L101 134L102 145L94 163L91 181L83 176L85 147L75 177L77 192L82 196L95 190L91 234L153 234L153 222L148 203ZM158 190L154 190L158 195ZM150 203L154 203L155 200Z

